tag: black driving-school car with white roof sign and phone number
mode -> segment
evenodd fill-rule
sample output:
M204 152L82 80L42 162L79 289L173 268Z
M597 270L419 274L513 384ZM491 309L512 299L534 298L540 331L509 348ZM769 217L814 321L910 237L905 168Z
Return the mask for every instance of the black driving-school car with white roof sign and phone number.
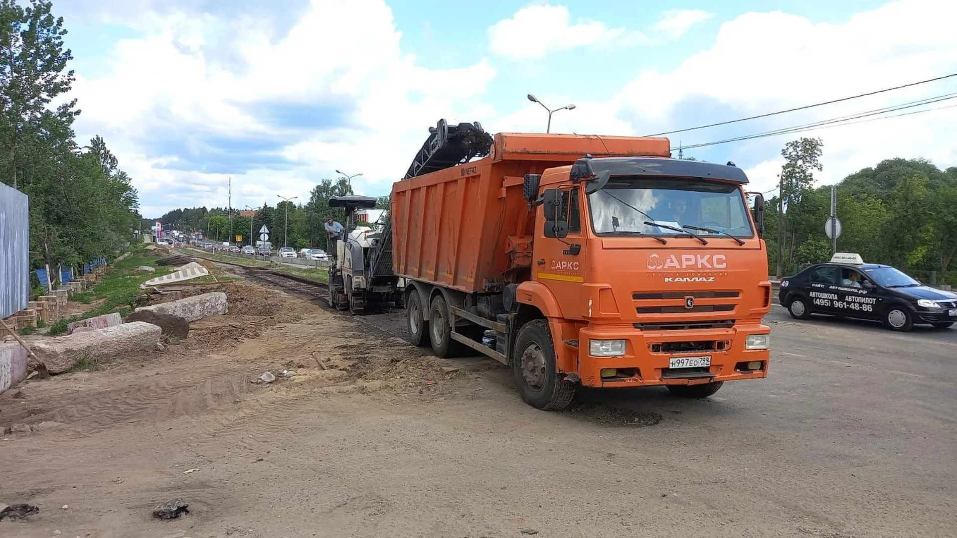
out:
M957 294L925 286L890 265L863 263L857 255L838 253L781 279L778 298L799 320L827 314L878 320L893 330L957 322Z

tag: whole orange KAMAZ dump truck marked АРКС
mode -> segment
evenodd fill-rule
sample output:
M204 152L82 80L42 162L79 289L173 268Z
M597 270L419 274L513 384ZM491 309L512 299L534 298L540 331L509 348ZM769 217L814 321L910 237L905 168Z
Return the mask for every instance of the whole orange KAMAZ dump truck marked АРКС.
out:
M752 215L744 171L671 159L664 138L489 141L484 158L438 164L427 144L392 187L414 344L513 366L545 410L579 386L705 397L768 375L764 204Z

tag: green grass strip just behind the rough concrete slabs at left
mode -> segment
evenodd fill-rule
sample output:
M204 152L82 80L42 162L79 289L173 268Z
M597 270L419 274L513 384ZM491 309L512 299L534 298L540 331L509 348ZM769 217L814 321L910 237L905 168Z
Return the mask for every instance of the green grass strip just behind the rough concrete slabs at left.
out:
M150 262L155 260L155 255L149 256L142 248L137 248L133 250L131 256L117 261L98 284L81 293L72 294L70 297L71 301L79 301L80 303L88 304L100 300L102 303L81 316L71 316L59 320L56 324L51 325L50 331L47 333L48 336L64 334L67 324L79 320L109 314L110 312L120 312L121 316L132 312L137 296L143 293L140 284L175 270L175 267L157 267L155 273L142 273L137 270L140 265L150 265Z

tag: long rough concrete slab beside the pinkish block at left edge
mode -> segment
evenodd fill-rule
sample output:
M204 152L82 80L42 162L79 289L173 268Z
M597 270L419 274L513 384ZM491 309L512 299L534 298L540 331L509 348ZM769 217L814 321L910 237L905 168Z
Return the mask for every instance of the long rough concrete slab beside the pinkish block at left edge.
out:
M68 371L81 357L92 360L117 359L131 353L154 349L162 329L144 322L114 325L33 342L33 353L50 373Z

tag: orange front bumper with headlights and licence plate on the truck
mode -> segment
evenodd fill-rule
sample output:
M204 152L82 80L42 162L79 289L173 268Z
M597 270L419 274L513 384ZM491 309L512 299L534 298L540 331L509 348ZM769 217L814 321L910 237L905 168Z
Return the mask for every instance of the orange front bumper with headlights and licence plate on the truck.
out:
M633 325L590 325L579 333L578 374L586 387L639 387L652 385L698 385L716 381L761 379L768 376L769 349L746 349L751 334L769 334L770 327L760 322L736 324L728 328L687 330L638 330ZM625 340L625 354L617 357L592 357L590 340ZM677 351L696 343L696 350ZM701 343L713 343L708 349ZM709 367L670 369L672 357L710 356ZM758 361L760 370L740 370L739 363ZM607 375L614 369L613 376ZM602 376L606 370L606 376Z

